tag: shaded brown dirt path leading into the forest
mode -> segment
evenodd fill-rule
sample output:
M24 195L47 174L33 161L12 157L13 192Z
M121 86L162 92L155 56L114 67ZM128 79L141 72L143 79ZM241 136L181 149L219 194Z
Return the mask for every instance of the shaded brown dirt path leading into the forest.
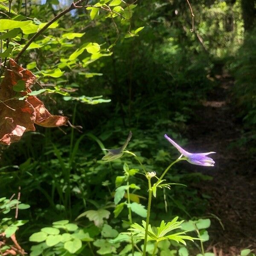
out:
M216 256L234 256L245 248L256 252L256 159L248 154L246 144L236 143L242 125L231 104L233 79L225 72L215 79L218 86L195 110L188 136L191 146L217 152L211 155L215 167L198 167L199 172L213 177L198 188L211 197L207 214L218 216L224 227L212 218L207 251L214 251Z

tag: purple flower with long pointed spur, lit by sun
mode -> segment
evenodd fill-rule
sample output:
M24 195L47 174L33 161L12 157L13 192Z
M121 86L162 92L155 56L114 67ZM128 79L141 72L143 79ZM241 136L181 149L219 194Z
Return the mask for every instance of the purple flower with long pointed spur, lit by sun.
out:
M207 155L213 154L213 153L216 153L216 152L194 153L194 154L189 153L188 151L181 148L172 139L170 139L166 134L164 135L164 137L166 138L166 140L169 140L169 142L172 143L172 145L174 145L175 148L177 148L178 151L180 151L180 154L182 154L189 163L196 164L196 165L201 165L201 166L214 166L215 162L212 160L212 158L207 157Z

